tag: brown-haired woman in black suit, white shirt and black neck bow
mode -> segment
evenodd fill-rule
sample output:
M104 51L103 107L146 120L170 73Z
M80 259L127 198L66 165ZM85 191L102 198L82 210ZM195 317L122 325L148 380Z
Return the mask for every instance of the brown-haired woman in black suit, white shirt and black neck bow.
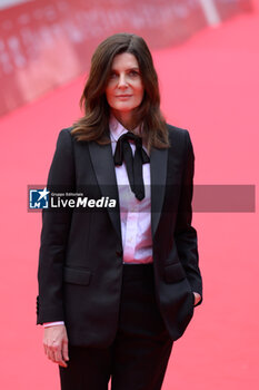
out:
M104 390L110 377L112 390L158 390L202 300L189 133L166 124L136 35L98 46L81 105L84 116L59 135L48 188L116 205L43 212L44 352L62 390Z

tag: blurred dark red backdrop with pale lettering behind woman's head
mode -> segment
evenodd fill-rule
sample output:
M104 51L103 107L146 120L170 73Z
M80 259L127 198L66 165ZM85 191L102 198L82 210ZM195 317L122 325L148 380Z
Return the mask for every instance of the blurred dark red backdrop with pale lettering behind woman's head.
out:
M250 0L213 0L222 19ZM153 48L176 45L207 25L199 0L37 0L0 12L0 115L89 66L98 42L119 31Z

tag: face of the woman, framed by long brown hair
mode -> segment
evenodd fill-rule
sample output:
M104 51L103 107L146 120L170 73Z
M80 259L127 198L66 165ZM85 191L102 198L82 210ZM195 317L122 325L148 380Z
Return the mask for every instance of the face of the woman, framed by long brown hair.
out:
M130 52L114 57L106 97L117 117L128 116L141 104L143 84L137 58Z

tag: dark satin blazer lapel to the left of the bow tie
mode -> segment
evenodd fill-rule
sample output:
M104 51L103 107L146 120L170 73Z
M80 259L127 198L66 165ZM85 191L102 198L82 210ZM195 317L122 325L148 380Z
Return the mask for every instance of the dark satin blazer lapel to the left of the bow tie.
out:
M89 143L89 152L102 196L116 199L114 208L107 208L112 225L121 241L120 205L111 145Z

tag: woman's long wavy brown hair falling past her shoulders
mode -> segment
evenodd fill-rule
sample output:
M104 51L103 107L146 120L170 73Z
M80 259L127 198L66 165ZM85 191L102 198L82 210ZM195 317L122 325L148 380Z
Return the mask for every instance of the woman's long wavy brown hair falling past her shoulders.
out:
M96 140L99 144L110 142L107 133L110 107L106 98L106 88L113 58L122 52L132 53L139 64L145 94L135 115L136 123L141 126L145 144L149 150L152 146L166 148L169 140L166 120L160 111L158 76L146 41L133 33L116 33L97 47L80 99L84 116L73 124L71 133L77 140Z

